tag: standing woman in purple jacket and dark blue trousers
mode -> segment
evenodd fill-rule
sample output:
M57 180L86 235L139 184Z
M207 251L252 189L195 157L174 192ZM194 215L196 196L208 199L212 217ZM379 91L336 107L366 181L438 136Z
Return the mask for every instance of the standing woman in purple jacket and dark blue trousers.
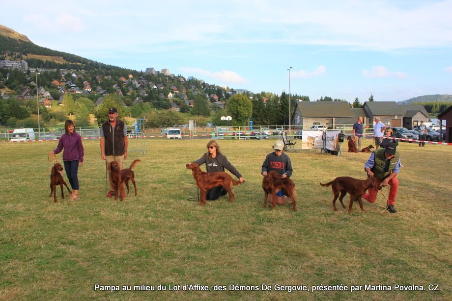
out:
M79 166L83 164L83 145L82 137L75 132L75 125L72 120L66 120L64 123L65 134L62 134L58 141L58 146L55 151L51 151L50 154L54 155L63 151L63 163L66 170L66 176L69 179L74 192L70 196L70 200L76 200L79 198L79 178L77 173Z

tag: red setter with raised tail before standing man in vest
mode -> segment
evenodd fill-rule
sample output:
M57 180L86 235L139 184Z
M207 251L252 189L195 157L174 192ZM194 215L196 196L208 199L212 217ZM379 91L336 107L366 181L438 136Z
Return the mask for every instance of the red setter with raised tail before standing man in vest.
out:
M129 168L124 168L122 170L119 170L119 165L114 161L110 162L108 165L107 169L110 172L110 182L113 185L115 200L118 199L118 192L121 194L120 200L123 201L125 199L124 183L127 187L127 194L129 194L129 180L134 184L135 195L138 195L137 184L135 183L135 173L132 170L138 162L141 162L141 160L133 160Z

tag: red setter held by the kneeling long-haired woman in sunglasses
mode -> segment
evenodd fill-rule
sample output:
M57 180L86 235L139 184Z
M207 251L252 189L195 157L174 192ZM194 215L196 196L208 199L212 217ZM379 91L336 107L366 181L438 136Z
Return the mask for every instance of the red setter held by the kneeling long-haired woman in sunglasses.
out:
M201 171L199 165L196 163L189 163L186 165L187 169L192 170L193 177L196 180L196 185L201 191L201 197L199 199L199 205L204 206L206 198L205 194L207 190L217 186L223 186L229 194L229 201L234 202L234 194L232 193L232 186L242 184L240 181L233 180L229 174L225 172L219 173L205 173Z

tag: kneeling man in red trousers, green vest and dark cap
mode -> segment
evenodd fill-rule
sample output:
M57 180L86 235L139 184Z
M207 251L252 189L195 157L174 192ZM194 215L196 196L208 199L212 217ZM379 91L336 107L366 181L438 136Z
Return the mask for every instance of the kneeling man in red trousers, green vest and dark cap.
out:
M395 177L400 169L400 155L395 151L397 143L388 143L385 148L373 151L367 160L364 170L367 176L375 176L382 180L381 187L390 185L389 197L386 209L390 213L396 213L394 204L397 197L398 179ZM363 199L369 203L375 202L378 190L369 188L368 192L363 195Z

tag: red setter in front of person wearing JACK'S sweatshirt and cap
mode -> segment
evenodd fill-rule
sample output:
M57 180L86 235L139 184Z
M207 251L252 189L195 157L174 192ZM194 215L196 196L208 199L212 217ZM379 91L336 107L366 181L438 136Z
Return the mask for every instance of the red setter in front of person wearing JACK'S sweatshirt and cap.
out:
M267 207L268 195L271 195L272 205L270 206L270 210L273 210L276 205L276 193L281 190L285 196L288 196L292 200L292 210L295 211L295 205L297 203L295 201L295 184L290 178L282 178L282 175L271 171L262 179L262 189L264 190L264 205L262 208Z

